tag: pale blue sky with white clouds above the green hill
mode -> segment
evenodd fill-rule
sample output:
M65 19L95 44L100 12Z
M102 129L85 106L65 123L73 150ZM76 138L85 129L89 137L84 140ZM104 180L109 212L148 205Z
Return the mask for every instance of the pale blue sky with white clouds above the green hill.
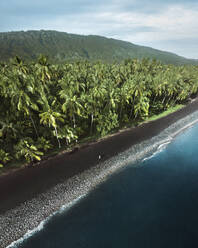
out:
M0 32L57 30L198 59L198 0L0 0Z

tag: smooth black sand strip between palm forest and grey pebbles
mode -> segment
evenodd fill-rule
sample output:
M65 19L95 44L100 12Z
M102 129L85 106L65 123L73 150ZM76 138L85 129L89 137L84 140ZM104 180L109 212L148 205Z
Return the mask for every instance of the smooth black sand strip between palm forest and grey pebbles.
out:
M94 167L99 161L105 161L135 144L158 135L174 122L197 110L198 100L166 117L119 132L99 142L83 146L73 153L65 153L43 161L39 166L20 169L1 176L0 215L3 216L7 211L17 208L38 195L45 194L57 184ZM14 241L10 238L6 242L1 236L2 234L0 235L1 248Z

